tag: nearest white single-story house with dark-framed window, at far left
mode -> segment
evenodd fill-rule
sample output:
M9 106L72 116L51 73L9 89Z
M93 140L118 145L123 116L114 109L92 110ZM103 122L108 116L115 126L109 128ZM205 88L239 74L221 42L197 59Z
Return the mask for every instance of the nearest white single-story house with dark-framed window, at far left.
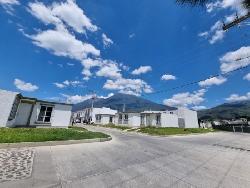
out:
M0 109L0 127L68 127L72 105L0 90Z

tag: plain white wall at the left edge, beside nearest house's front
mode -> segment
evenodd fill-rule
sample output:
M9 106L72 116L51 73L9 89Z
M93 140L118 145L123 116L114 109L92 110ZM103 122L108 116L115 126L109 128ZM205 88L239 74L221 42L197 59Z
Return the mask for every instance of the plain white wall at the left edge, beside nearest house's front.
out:
M12 105L18 93L0 89L0 127L6 127Z

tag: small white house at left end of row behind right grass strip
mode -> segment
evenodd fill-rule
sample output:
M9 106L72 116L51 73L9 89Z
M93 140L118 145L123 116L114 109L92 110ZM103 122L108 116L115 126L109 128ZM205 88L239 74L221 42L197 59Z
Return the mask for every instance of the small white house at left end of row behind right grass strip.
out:
M128 127L140 127L141 114L135 112L119 112L115 116L115 124Z

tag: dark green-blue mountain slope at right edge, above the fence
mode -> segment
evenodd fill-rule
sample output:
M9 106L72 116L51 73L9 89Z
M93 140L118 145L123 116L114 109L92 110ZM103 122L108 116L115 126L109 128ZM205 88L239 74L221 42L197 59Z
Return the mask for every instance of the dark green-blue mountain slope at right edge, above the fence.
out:
M217 107L198 112L200 119L236 119L239 117L250 118L250 100L225 103Z

